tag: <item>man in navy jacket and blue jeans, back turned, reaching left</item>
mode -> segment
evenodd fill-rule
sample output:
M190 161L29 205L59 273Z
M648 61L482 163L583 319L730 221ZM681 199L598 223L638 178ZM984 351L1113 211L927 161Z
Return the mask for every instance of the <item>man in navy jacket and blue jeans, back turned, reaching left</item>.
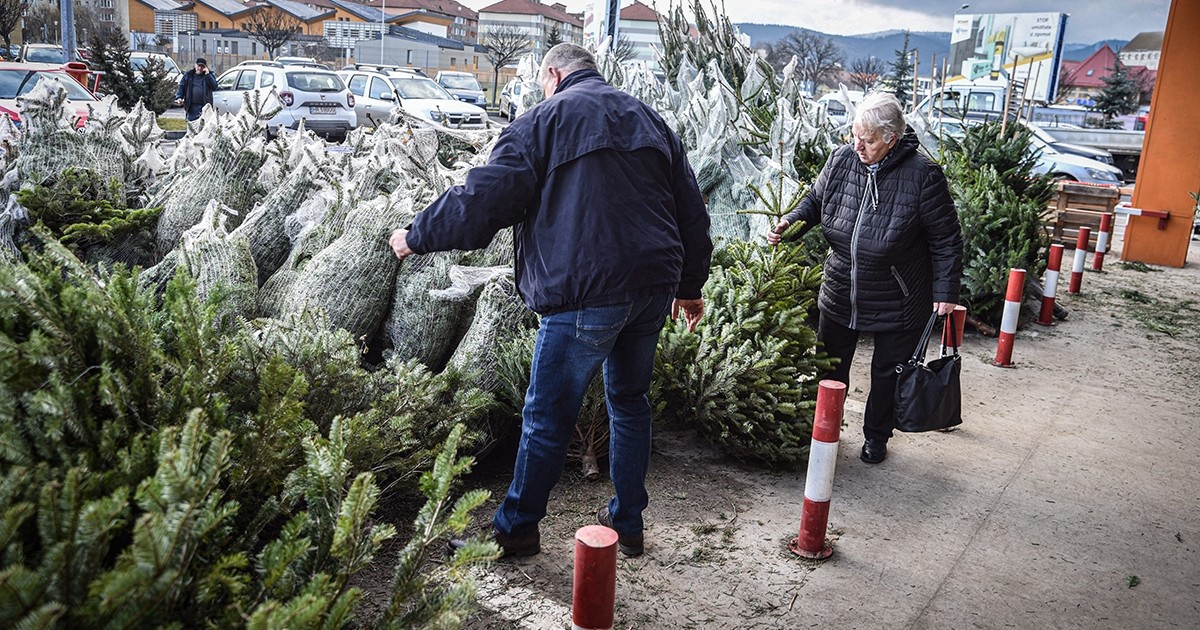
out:
M596 514L642 553L650 406L668 310L695 329L713 244L679 138L569 43L541 66L547 98L500 134L488 163L396 230L396 256L485 247L514 226L517 288L540 313L512 485L493 520L508 556L541 550L538 522L566 462L583 392L604 367L616 497Z

